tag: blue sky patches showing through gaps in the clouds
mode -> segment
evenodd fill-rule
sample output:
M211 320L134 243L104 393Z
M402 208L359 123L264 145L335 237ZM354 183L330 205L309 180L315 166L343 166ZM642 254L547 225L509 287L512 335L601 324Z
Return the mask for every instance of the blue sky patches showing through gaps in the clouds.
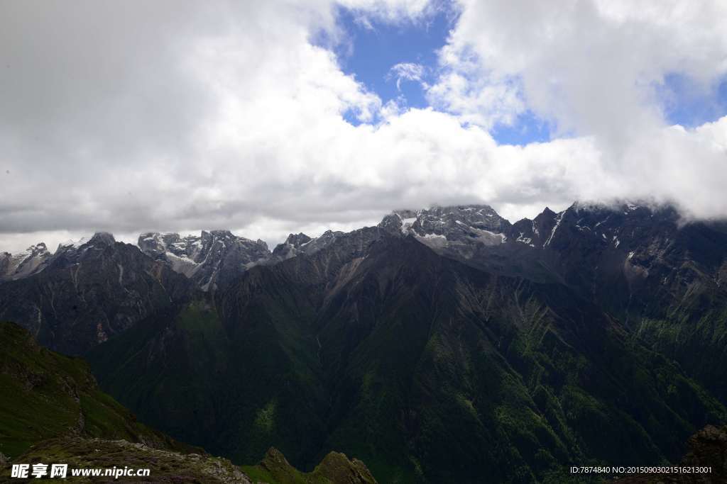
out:
M429 106L425 89L417 81L402 80L397 86L391 68L403 62L424 66L424 83L433 84L438 75L437 52L446 44L449 31L457 23L453 9L439 8L423 19L404 22L361 20L356 12L340 8L340 26L345 41L336 48L343 72L354 75L366 89L382 102L398 100L406 107ZM718 120L727 114L727 78L712 86L700 86L678 73L666 75L654 88L667 123L694 128ZM359 121L353 113L345 116L350 123ZM529 144L553 139L555 129L550 120L526 110L512 125L497 123L490 134L499 144Z

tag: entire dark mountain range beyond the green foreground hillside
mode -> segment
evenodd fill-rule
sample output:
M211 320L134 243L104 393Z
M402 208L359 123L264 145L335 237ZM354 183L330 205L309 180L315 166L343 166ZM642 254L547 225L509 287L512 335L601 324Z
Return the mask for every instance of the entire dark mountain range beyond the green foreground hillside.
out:
M0 320L237 464L275 446L387 483L555 483L677 462L727 420L727 226L666 205L395 210L272 251L98 233L4 253L0 277Z

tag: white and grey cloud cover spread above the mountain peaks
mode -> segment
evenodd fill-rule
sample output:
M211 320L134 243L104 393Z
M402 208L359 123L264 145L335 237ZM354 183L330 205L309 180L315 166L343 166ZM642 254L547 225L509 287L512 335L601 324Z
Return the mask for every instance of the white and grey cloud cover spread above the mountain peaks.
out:
M0 247L97 229L274 241L433 203L517 218L649 198L727 216L727 117L664 116L668 75L707 96L726 75L724 4L632 5L4 2ZM313 43L344 41L340 7L388 23L457 11L432 107L383 103ZM417 81L409 61L393 73ZM497 144L489 130L526 111L553 141Z

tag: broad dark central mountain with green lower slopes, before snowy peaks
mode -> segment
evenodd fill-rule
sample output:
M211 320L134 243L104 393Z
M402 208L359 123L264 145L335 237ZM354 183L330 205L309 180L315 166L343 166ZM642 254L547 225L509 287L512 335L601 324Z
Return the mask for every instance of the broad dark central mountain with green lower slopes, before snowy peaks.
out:
M725 418L566 284L384 229L252 268L90 358L142 418L233 461L272 442L310 467L337 448L387 482L557 482L569 462L675 459Z

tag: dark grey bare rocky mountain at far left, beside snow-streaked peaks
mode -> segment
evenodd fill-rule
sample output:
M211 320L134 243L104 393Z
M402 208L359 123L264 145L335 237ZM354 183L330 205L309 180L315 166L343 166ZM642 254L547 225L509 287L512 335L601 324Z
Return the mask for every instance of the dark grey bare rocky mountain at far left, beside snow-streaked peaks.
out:
M98 233L61 244L36 274L0 284L0 319L29 329L41 345L81 354L192 290L164 263Z

